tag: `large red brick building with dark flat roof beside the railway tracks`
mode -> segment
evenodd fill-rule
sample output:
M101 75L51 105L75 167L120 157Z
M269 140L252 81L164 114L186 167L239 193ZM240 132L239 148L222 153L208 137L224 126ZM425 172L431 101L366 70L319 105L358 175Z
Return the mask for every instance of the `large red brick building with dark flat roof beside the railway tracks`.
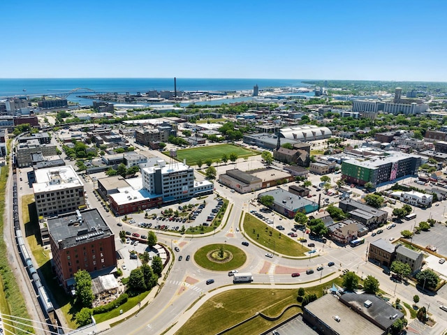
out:
M74 274L87 270L92 278L116 270L115 235L97 209L75 211L47 220L54 271L65 290Z

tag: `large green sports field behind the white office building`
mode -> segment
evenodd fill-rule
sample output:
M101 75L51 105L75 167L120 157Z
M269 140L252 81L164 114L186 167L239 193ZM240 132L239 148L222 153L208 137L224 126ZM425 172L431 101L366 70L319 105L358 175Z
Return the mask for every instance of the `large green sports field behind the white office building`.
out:
M197 165L198 160L201 159L202 163L205 165L205 161L207 159L212 159L212 161L215 161L217 159L221 159L223 154L226 154L228 161L230 161L229 156L233 152L237 154L237 158L244 158L259 154L258 151L244 149L233 144L217 144L207 147L177 150L177 160L182 162L184 158L186 158L186 164ZM169 156L169 151L164 151L163 154Z

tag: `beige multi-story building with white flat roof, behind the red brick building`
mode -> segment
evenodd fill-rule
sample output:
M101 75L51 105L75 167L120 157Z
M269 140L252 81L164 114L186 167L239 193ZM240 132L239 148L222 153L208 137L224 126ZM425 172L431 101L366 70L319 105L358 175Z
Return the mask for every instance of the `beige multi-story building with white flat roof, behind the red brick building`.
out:
M34 173L33 190L39 218L85 208L84 184L71 165Z

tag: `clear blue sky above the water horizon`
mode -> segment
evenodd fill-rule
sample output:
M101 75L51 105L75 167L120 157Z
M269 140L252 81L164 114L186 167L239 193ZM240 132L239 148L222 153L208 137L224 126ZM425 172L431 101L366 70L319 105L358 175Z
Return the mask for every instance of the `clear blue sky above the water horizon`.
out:
M0 1L0 77L447 81L446 1Z

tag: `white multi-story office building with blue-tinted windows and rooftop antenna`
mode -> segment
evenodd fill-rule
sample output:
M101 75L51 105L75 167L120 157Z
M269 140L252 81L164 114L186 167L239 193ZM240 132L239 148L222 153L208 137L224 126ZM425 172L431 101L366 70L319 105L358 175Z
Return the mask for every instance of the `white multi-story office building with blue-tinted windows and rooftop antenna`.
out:
M194 169L184 163L142 168L142 187L151 195L162 195L163 202L186 200L194 196Z

